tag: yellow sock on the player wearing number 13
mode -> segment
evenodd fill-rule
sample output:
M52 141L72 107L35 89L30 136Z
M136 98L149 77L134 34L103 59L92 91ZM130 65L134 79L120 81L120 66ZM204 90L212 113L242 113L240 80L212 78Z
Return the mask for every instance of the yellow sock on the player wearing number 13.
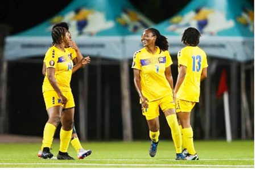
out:
M192 128L182 129L182 134L184 136L184 141L186 143L188 153L191 154L191 155L195 155L196 150L195 150L194 142L193 142L193 130L192 130Z

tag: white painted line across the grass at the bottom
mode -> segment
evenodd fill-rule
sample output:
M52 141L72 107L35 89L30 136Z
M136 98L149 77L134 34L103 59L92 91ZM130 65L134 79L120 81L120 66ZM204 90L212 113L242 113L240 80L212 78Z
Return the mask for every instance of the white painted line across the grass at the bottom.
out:
M87 166L117 166L117 167L247 167L254 168L254 165L184 165L184 164L89 164L89 163L0 163L0 165L87 165Z

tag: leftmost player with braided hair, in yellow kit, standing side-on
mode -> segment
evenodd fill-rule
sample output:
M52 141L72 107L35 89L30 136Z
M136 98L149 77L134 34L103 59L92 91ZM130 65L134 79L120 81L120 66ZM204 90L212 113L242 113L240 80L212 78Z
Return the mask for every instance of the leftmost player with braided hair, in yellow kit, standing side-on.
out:
M68 146L71 141L75 102L71 92L70 81L73 69L81 67L81 60L73 67L73 59L77 57L75 49L69 46L71 34L64 27L52 29L52 46L48 49L44 62L46 76L43 82L43 96L48 113L48 121L44 127L41 157L52 158L49 148L52 145L53 135L61 120L60 149L57 159L73 159L68 155ZM85 58L83 58L85 60ZM66 111L62 114L63 109Z

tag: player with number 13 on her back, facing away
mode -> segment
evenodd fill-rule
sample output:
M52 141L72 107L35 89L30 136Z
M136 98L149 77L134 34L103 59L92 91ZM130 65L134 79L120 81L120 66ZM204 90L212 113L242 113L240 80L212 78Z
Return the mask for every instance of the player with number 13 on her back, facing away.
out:
M186 46L177 54L179 74L174 95L176 113L181 124L185 160L199 160L193 144L190 115L192 108L199 102L200 82L207 78L207 55L197 46L200 36L196 28L185 29L181 41Z

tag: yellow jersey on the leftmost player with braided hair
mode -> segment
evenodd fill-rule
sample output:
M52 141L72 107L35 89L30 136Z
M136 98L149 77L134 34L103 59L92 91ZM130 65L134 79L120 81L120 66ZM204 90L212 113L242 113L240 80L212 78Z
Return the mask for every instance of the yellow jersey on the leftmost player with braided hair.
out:
M70 82L73 69L73 59L76 58L76 51L73 48L65 48L65 52L51 46L46 52L44 62L46 69L49 67L55 68L55 79L61 91L71 91ZM47 71L44 76L43 92L54 90L49 83Z

